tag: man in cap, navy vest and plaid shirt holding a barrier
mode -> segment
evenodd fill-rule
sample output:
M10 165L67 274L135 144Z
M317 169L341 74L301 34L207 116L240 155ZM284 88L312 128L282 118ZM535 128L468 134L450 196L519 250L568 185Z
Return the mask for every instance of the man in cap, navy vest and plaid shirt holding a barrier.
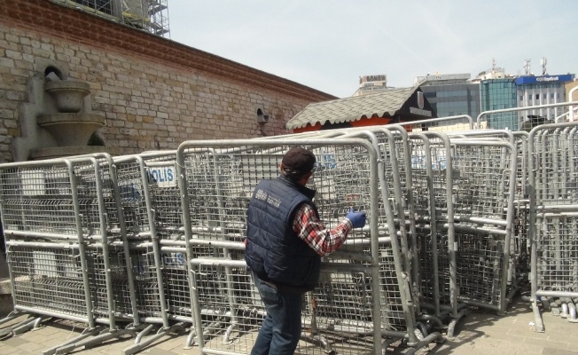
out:
M283 156L276 179L255 187L247 212L245 260L267 310L252 355L291 355L301 335L301 304L319 280L321 256L340 248L352 228L365 225L365 212L348 215L335 228L319 221L313 153L295 146Z

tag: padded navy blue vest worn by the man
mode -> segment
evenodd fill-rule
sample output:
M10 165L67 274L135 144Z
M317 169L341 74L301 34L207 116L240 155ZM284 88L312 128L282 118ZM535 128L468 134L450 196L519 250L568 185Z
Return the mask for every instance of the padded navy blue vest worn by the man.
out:
M255 187L247 211L245 260L262 280L300 290L316 287L321 257L293 232L301 204L316 210L314 195L314 190L284 176Z

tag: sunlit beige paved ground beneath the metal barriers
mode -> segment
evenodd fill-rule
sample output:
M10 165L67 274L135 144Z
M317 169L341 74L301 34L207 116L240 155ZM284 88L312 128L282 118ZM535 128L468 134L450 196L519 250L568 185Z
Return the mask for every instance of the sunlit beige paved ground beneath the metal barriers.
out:
M529 325L534 320L529 305L519 298L515 300L509 312L502 317L495 313L472 310L457 326L455 339L442 344L431 344L428 351L420 354L547 354L578 355L578 324L566 319L543 314L545 333L535 333ZM4 327L0 326L0 327ZM12 336L0 341L0 354L37 354L44 349L64 343L82 329L73 327L64 321L52 321L35 331ZM149 355L198 355L199 348L184 350L186 334L165 337L141 353ZM74 351L87 354L120 354L121 350L134 342L133 338L111 341L90 350ZM401 354L402 348L391 349Z

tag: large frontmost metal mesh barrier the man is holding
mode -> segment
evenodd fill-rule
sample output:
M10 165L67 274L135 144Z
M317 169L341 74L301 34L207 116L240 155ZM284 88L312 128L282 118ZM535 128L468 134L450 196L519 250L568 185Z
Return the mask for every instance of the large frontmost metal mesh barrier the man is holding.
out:
M193 318L201 351L246 353L254 342L264 308L235 246L242 245L246 206L254 186L262 178L277 177L281 157L294 145L307 146L316 154L318 163L310 183L317 190L316 204L324 223L337 223L349 206L365 209L370 221L363 231L351 233L346 247L325 259L323 280L309 294L303 311L309 333L302 336L299 351L313 347L350 353L362 347L380 353L382 336L407 338L414 347L439 338L439 333L433 333L426 336L426 343L420 343L416 335L410 275L402 266L401 247L394 245L398 242L396 230L388 227L395 225L388 192L377 188L380 179L385 182L385 175L378 175L379 169L383 171L378 164L383 162L370 142L359 138L185 142L177 161L179 176L184 177L185 236L191 235L187 238L190 248L199 241L210 242L213 248L218 247L215 241L230 243L215 251L221 257L191 259ZM210 169L212 174L207 171ZM195 212L201 194L215 206L210 213ZM224 218L216 220L215 216ZM211 226L211 221L218 223ZM195 233L199 227L212 228ZM387 242L380 242L379 235L387 233ZM216 288L226 292L215 294ZM338 328L348 332L340 335ZM224 334L223 340L208 336L217 333ZM351 335L363 335L355 347L348 343Z

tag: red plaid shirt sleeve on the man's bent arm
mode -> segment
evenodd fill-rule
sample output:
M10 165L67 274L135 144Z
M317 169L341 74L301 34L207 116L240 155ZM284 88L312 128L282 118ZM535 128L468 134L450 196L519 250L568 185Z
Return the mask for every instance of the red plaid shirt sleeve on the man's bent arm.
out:
M297 210L293 221L293 231L320 256L328 256L340 248L352 228L348 218L344 218L333 229L326 228L308 203L303 203Z

